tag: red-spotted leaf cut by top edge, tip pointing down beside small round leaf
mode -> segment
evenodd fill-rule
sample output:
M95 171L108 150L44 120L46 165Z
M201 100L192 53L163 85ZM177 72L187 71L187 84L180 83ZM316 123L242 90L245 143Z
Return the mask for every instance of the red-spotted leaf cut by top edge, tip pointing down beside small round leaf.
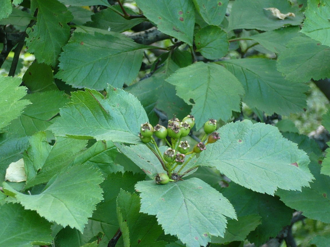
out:
M159 31L192 46L195 26L195 8L186 0L138 0L143 14L157 25Z

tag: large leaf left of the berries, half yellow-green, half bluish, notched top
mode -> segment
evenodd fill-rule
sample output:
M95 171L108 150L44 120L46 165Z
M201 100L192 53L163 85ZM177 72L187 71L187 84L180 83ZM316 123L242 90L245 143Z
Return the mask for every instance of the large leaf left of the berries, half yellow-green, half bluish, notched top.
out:
M72 93L61 117L49 127L57 136L140 144L141 124L148 121L139 100L121 89L108 88L107 97L95 90Z

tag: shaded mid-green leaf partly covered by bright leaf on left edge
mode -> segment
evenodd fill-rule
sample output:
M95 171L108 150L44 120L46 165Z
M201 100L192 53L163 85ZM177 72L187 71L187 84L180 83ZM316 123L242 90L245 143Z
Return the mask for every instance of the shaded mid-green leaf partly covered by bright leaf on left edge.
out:
M44 131L57 117L59 108L69 102L68 95L60 91L46 91L28 94L24 99L32 104L9 125L9 132L20 136L32 136L38 131Z

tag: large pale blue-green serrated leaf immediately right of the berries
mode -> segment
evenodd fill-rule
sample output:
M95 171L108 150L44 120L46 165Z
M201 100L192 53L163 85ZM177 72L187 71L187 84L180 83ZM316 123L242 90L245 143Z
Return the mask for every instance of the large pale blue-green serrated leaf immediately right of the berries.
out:
M218 132L221 139L208 145L195 165L216 167L235 183L270 195L277 188L300 191L314 178L306 153L272 125L244 120Z

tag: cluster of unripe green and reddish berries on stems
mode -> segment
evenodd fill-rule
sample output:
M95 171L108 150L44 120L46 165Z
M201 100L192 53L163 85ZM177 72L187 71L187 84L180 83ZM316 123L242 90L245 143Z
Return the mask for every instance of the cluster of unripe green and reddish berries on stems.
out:
M180 180L182 176L197 168L197 166L192 167L187 171L182 172L185 165L192 159L192 157L196 153L200 153L205 150L206 145L210 143L215 143L217 140L220 139L219 133L215 132L216 120L209 119L204 124L205 135L202 138L201 142L196 144L189 152L190 146L188 142L181 141L181 138L189 134L190 129L194 126L194 124L195 118L192 115L188 115L183 118L182 122L180 122L180 120L176 117L173 117L168 121L167 128L159 124L153 127L148 122L145 124L141 124L141 132L139 133L141 141L147 144L149 149L159 159L160 163L163 166L163 169L167 172L157 174L154 178L156 183L166 184L170 181ZM159 139L163 139L168 144L169 148L164 153L160 152L153 135ZM207 142L204 144L204 141L207 137ZM171 143L169 142L169 140L167 140L167 138L171 140ZM153 146L149 143L153 144ZM186 156L189 154L189 158L185 159ZM175 169L178 166L180 166L181 168L178 170L178 172L175 172Z

